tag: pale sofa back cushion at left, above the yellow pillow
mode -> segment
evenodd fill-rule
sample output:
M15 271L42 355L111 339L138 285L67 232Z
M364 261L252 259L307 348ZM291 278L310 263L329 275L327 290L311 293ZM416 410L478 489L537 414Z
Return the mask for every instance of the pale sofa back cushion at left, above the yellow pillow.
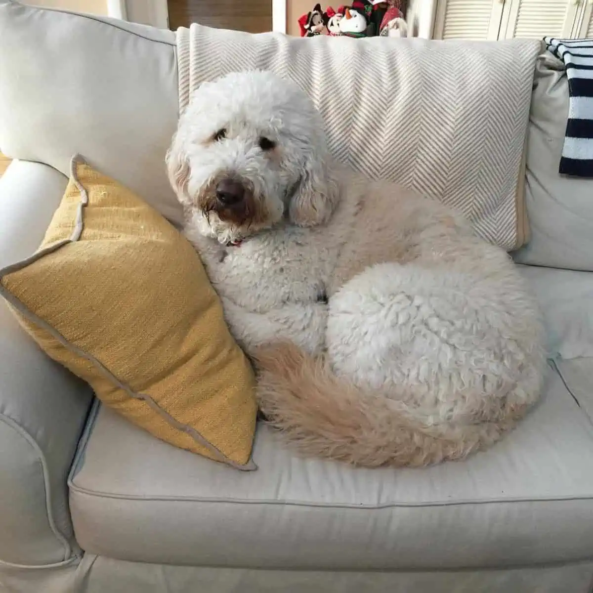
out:
M181 222L164 164L178 117L175 43L173 31L0 0L1 151L66 176L79 152Z

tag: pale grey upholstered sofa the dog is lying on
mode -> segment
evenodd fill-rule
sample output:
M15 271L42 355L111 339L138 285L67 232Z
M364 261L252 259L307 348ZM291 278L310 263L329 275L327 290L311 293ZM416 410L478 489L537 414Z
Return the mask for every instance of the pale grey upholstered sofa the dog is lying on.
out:
M0 268L39 246L75 152L178 219L163 162L176 39L0 0L0 151L14 159ZM101 406L0 302L0 590L593 591L593 181L557 173L568 83L543 48L531 88L530 237L512 257L549 365L515 431L458 463L370 470L299 457L262 423L259 469L236 471Z

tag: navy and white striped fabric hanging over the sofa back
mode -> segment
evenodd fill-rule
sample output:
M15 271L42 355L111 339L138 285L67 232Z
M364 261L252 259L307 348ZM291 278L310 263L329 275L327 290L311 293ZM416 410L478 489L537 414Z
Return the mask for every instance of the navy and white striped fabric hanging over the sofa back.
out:
M593 177L593 39L544 37L563 60L568 78L569 112L560 173Z

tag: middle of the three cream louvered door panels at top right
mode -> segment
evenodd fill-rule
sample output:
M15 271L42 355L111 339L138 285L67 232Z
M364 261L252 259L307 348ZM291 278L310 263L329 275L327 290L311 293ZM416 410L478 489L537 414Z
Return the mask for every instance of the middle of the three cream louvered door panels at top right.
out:
M500 38L572 37L580 9L574 0L507 0ZM508 12L507 12L508 11Z

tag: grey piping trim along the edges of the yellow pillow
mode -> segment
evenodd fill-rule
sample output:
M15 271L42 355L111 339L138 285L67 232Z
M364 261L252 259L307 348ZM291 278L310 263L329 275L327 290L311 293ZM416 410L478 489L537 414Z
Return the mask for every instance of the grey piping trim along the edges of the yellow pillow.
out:
M79 240L82 235L82 230L84 229L84 219L83 219L83 212L85 206L88 205L88 193L87 190L82 186L82 184L78 180L78 176L76 173L76 165L77 164L88 164L84 158L76 154L72 157L70 168L71 168L71 178L74 181L76 187L78 188L79 192L81 193L81 200L78 204L78 209L76 211L76 222L75 228L72 232L72 235L69 239L63 239L62 241L58 241L53 245L47 246L42 250L37 251L30 257L21 260L20 262L9 264L8 266L0 269L0 296L3 297L15 310L18 311L23 317L27 318L28 321L36 324L36 326L40 327L40 329L47 331L54 339L58 340L58 342L66 347L70 352L74 353L76 356L79 356L86 361L90 362L107 380L112 382L116 387L120 388L121 390L125 391L125 393L132 397L135 400L144 401L152 410L157 412L163 419L173 428L176 428L178 431L184 432L187 435L191 436L194 441L198 444L202 445L202 447L208 449L214 456L215 461L220 461L221 463L225 463L228 466L234 467L237 470L241 471L254 471L257 470L257 465L254 463L253 459L251 458L247 461L246 464L241 465L236 461L231 460L227 455L225 455L216 445L213 445L209 442L202 434L196 431L195 428L192 426L183 424L176 420L173 416L171 416L166 410L162 409L161 406L150 396L146 395L145 393L137 393L133 391L128 385L120 381L103 363L101 363L97 358L91 355L85 350L82 350L78 346L72 344L67 340L62 334L59 333L54 327L52 327L47 321L43 320L42 318L38 317L32 311L28 310L27 307L14 295L12 295L7 288L2 283L2 279L4 276L12 272L18 272L18 270L24 269L25 267L29 266L30 264L35 263L37 260L41 259L42 257L57 251L60 247L68 245L69 243L75 243Z

